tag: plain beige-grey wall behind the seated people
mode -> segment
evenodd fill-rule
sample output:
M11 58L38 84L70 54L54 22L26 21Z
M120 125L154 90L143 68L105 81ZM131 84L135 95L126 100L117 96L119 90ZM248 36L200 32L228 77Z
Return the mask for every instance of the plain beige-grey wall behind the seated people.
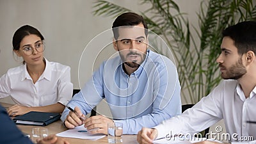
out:
M147 5L141 6L138 0L111 1L134 12L147 9ZM181 11L188 13L188 19L194 26L198 26L196 12L200 8L200 1L177 0ZM97 55L93 52L98 51L87 49L83 67L78 70L84 47L95 36L111 28L113 22L111 17L93 16L92 7L93 0L0 0L0 76L9 68L21 65L22 59L12 52L12 36L20 26L29 24L38 28L45 37L45 58L70 66L74 88L80 88L79 83L83 86L99 63L115 52L109 44L97 61L91 63ZM98 41L100 43L103 40Z

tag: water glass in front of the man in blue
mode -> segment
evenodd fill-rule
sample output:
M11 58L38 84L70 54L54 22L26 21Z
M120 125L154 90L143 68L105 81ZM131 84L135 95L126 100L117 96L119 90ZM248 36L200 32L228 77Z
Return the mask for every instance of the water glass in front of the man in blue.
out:
M108 124L108 143L122 143L123 124L114 122Z

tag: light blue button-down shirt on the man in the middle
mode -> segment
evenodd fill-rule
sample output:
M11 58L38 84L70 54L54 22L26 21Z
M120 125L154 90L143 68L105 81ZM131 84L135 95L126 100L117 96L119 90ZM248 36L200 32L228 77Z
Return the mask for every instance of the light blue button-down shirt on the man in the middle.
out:
M86 115L106 99L115 122L123 124L124 134L137 134L142 127L154 127L181 113L180 84L171 60L147 51L140 67L130 76L120 56L104 61L68 106L78 106ZM66 108L61 116L64 122Z

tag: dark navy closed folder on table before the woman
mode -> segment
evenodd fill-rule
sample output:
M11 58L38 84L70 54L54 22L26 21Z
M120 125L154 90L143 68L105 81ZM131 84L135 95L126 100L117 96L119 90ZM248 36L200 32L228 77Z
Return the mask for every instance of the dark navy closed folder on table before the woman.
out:
M21 125L45 126L59 120L60 116L60 113L44 113L39 111L30 111L29 113L25 113L24 115L13 118L13 120L16 124Z

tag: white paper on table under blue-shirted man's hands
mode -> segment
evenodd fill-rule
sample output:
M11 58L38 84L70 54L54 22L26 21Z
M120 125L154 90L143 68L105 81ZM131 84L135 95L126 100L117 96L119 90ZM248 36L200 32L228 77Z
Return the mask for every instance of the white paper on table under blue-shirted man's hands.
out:
M75 127L74 129L68 129L67 131L60 132L56 134L56 136L67 137L67 138L80 138L80 139L87 139L87 140L98 140L103 138L104 134L90 134L84 125L80 125Z

